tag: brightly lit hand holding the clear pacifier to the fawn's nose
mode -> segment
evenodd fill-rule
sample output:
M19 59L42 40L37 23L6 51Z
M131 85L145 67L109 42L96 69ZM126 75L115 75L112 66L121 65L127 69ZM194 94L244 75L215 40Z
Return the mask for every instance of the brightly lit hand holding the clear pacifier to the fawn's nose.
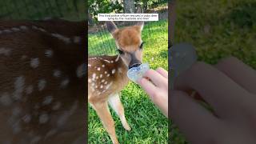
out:
M144 78L138 80L150 99L162 113L168 117L168 72L162 68L157 70L148 70Z

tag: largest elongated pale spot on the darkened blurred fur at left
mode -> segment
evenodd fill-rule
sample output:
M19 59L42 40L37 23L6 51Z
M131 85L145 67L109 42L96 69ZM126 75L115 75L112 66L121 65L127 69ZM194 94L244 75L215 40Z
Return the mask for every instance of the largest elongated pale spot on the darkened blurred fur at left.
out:
M13 98L16 100L19 100L22 98L22 92L25 88L25 78L23 76L20 76L16 78L14 82L14 95Z

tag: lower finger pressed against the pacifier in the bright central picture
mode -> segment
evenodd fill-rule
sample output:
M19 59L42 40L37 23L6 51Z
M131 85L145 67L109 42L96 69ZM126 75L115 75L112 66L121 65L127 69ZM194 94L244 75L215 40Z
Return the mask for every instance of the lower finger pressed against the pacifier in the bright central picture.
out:
M154 96L157 92L157 87L146 78L139 79L138 84L142 86L142 88L146 91L146 94L150 95L150 98L152 98L152 96Z

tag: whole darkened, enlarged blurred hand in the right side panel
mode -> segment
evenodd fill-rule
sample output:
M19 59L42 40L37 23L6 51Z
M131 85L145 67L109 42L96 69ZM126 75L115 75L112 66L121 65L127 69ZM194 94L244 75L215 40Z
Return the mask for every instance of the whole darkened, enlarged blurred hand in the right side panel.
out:
M214 113L187 92L195 90ZM190 143L256 143L256 71L237 58L216 66L195 63L180 74L170 95L170 114Z

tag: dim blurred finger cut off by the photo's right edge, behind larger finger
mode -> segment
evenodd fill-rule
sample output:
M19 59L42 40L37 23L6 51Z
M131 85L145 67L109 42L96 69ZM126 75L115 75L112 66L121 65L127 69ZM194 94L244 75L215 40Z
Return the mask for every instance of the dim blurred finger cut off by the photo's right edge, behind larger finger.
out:
M256 71L239 61L238 58L226 58L218 62L216 68L251 94L256 94Z

